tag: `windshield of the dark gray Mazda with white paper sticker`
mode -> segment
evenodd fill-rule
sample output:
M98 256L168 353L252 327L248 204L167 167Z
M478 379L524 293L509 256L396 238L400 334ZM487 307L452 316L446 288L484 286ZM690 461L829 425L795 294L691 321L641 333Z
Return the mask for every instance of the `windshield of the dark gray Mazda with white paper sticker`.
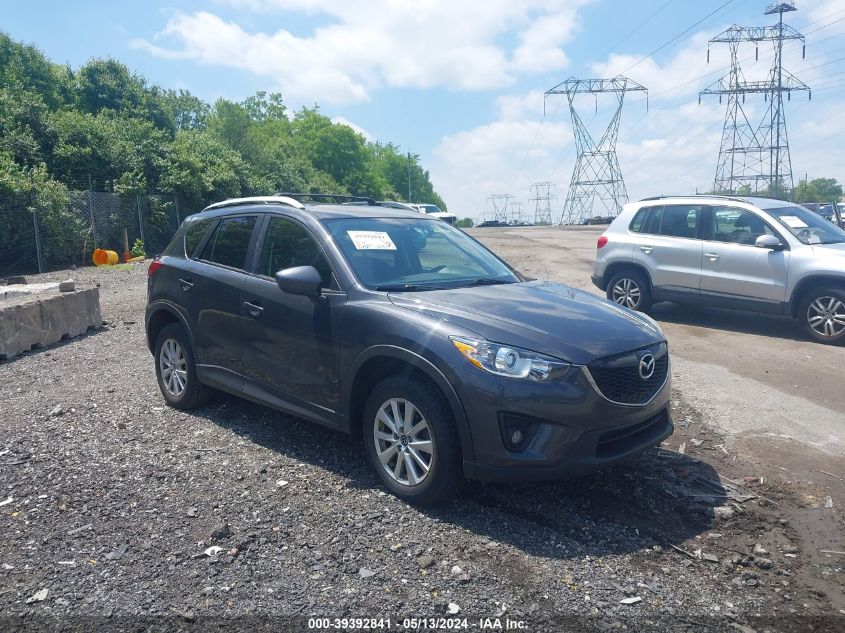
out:
M478 242L424 218L324 220L355 276L375 290L442 290L521 279Z

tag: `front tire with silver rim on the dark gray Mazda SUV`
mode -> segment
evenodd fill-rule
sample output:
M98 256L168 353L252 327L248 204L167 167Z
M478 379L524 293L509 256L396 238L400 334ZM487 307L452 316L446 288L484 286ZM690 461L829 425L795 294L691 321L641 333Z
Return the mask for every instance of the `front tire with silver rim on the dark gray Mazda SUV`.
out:
M404 420L409 404L416 412L411 411L407 428ZM387 422L396 417L399 425L393 432ZM421 424L425 428L420 428ZM362 425L370 463L385 487L400 499L434 505L449 500L462 487L455 422L443 394L427 380L408 376L380 382L367 398ZM423 448L426 445L430 453Z

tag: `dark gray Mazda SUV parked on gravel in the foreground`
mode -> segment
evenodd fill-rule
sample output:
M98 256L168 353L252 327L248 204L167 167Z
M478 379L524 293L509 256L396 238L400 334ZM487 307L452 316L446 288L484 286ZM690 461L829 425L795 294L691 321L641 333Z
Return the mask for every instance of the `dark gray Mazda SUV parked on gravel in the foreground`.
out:
M415 503L465 477L590 471L672 433L668 347L648 316L365 202L228 200L183 222L149 267L170 405L221 390L352 433Z

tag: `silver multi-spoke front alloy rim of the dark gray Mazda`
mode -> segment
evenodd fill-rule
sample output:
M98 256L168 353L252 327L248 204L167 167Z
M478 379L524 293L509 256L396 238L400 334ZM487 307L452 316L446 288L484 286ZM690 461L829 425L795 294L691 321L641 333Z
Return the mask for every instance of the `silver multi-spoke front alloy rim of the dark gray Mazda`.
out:
M431 431L420 410L408 400L391 398L379 407L373 441L382 467L395 482L418 486L431 472Z

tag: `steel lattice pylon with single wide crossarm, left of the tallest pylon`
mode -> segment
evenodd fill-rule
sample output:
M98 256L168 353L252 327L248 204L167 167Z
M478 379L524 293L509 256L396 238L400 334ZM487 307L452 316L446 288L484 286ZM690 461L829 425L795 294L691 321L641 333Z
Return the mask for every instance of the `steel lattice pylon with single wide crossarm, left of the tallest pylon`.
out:
M569 101L569 114L572 117L572 130L575 134L575 148L578 158L572 172L572 181L563 203L561 224L572 224L593 215L593 206L598 201L608 215L618 215L622 205L628 201L622 170L616 158L616 140L619 137L619 122L622 120L622 104L627 92L648 92L644 86L619 75L613 79L575 79L570 77L547 90L543 99L550 95L565 94ZM616 111L611 117L599 142L590 135L587 126L575 110L577 95L612 94L617 101Z

